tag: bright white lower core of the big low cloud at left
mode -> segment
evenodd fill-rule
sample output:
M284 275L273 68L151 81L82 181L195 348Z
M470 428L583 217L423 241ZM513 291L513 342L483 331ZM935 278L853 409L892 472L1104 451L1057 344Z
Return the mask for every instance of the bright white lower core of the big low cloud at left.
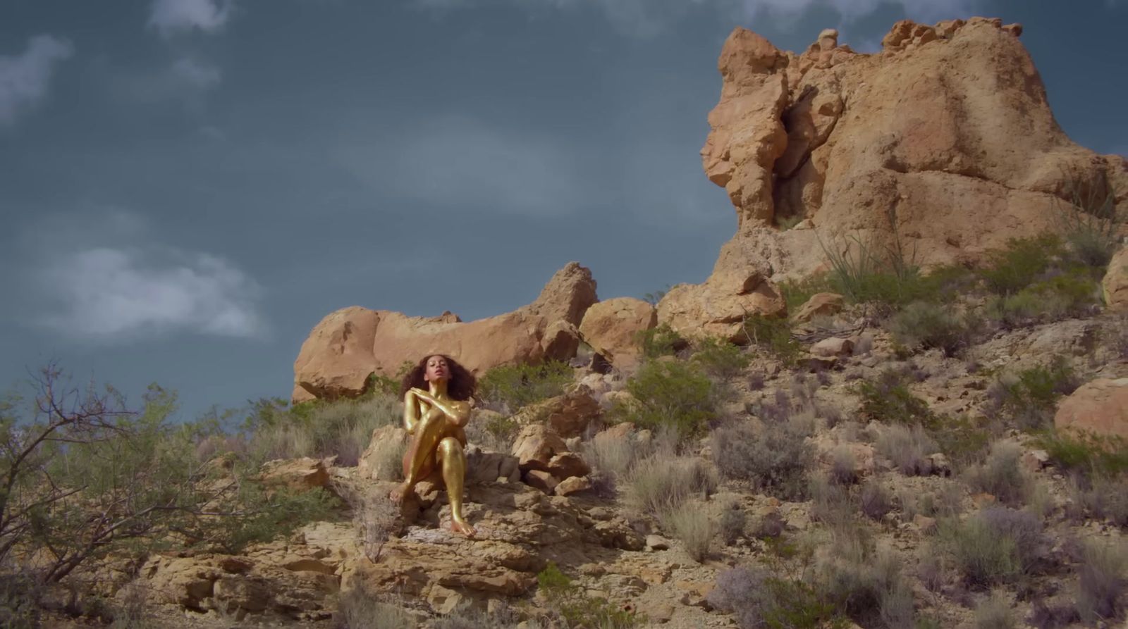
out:
M265 331L256 310L258 285L208 254L90 248L43 272L59 309L42 321L69 336L115 340L190 331L255 337Z

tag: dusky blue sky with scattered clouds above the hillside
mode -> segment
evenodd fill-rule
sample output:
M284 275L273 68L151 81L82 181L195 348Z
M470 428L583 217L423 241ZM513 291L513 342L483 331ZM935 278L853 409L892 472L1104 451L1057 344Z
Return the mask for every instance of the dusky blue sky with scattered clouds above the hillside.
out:
M873 51L971 15L1128 152L1122 0L0 0L0 387L56 360L191 418L288 396L346 305L487 317L569 260L601 299L699 282L734 26Z

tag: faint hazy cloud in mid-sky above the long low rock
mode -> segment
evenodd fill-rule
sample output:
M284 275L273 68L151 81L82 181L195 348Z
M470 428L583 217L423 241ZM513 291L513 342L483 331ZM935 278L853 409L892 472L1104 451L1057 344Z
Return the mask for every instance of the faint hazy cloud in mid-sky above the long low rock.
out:
M349 144L338 157L381 193L440 206L547 215L570 212L580 197L579 156L558 140L459 116L380 144Z

